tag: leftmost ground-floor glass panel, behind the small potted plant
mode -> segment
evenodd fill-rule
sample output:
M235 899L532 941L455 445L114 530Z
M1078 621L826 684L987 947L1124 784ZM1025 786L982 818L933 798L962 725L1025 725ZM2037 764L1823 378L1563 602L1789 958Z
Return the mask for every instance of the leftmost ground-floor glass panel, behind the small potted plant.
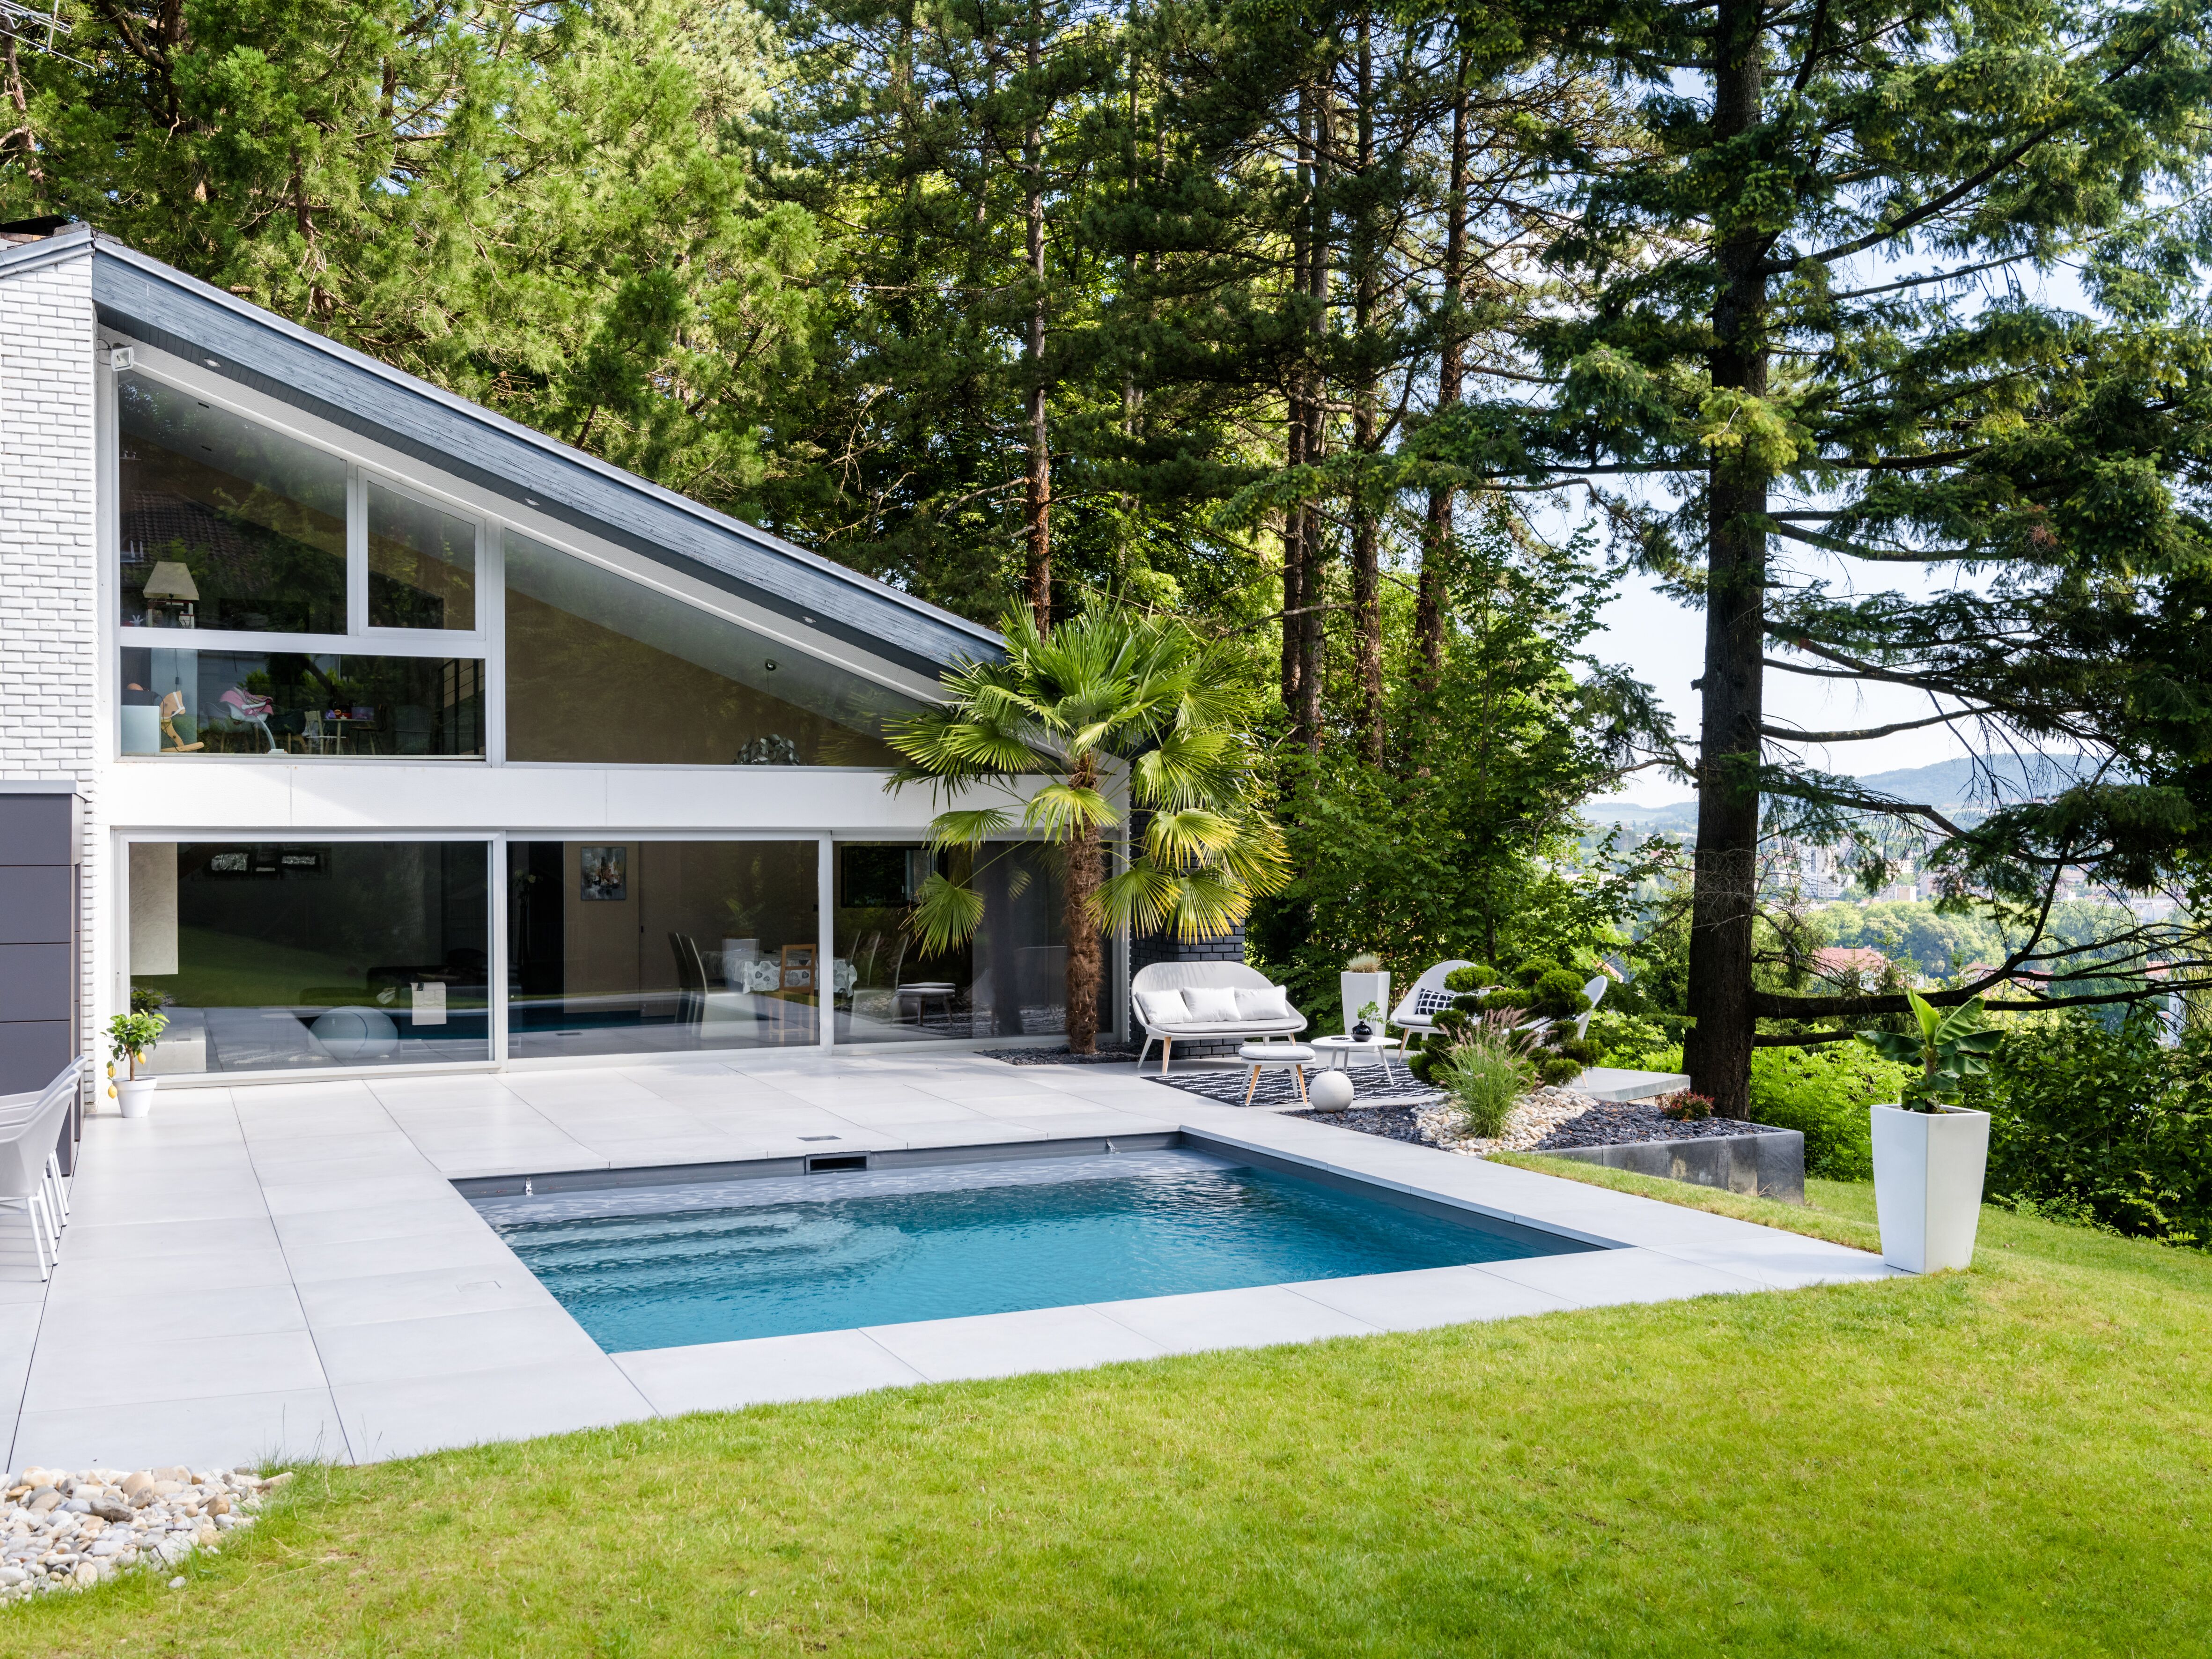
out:
M489 1060L482 841L131 847L155 1073Z

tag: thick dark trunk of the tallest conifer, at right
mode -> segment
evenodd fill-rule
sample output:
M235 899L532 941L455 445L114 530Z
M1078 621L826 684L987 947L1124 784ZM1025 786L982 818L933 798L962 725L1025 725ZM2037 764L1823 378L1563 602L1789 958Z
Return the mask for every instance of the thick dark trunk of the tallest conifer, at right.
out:
M1721 0L1714 131L1725 142L1761 108L1761 0ZM1712 385L1765 396L1767 283L1756 232L1719 248ZM1690 900L1690 1086L1721 1117L1750 1115L1752 925L1759 914L1759 726L1767 597L1767 476L1721 460L1708 473L1705 677L1697 787L1697 889Z

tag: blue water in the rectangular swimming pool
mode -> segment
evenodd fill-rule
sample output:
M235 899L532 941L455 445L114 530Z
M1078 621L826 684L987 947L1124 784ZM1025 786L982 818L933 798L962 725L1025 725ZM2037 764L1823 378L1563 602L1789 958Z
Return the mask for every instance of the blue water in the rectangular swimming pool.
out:
M611 1354L1588 1248L1188 1150L473 1203Z

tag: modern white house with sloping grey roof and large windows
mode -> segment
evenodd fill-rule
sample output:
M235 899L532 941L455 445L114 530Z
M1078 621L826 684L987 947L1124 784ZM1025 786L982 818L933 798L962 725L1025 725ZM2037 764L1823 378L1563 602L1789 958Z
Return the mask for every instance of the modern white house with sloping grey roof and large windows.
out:
M933 803L883 721L995 648L84 226L0 230L0 1088L133 989L175 1084L1051 1042L1042 858L953 956L902 927Z

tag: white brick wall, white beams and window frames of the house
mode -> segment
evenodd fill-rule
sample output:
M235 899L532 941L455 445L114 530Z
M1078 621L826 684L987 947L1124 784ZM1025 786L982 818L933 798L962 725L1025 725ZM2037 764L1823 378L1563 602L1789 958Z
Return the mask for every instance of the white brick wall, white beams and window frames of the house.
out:
M898 699L933 695L911 653L874 655L814 617L794 619L741 593L661 564L635 542L580 529L524 491L498 491L418 456L319 418L234 376L215 358L192 361L135 336L95 310L95 246L55 237L51 248L0 250L0 785L64 785L84 803L82 845L82 1026L84 1048L131 995L133 845L181 843L405 843L471 841L487 849L489 1057L436 1062L507 1066L571 1064L511 1057L502 987L509 984L504 872L513 843L761 841L814 843L821 964L838 964L849 942L834 938L838 843L920 841L938 805L927 790L889 794L880 768L845 765L630 765L520 761L507 754L507 661L502 628L502 538L513 531L544 549L619 575L639 591L737 624L790 653L785 668L841 672ZM210 290L212 292L212 290ZM228 303L228 301L226 301ZM175 345L175 341L173 341ZM288 637L199 628L124 626L119 591L117 378L168 387L201 409L241 416L343 462L349 502L349 626L343 646L327 633ZM487 420L491 420L487 416ZM604 469L602 469L604 471ZM389 489L478 526L476 626L462 633L396 633L367 626L361 604L361 493ZM144 580L144 577L142 577ZM148 617L150 622L150 617ZM150 708L124 710L126 653L358 650L482 661L482 757L354 757L345 752L179 754L175 734L153 739ZM768 664L774 668L774 664ZM243 684L243 681L241 681ZM133 686L133 690L137 690ZM126 728L124 714L137 726ZM161 728L168 732L168 728ZM268 730L265 726L261 728ZM343 750L343 739L323 745ZM150 845L148 845L150 843ZM153 869L159 860L144 858ZM166 880L166 878L164 878ZM146 898L142 894L142 898ZM173 898L168 900L173 902ZM644 931L644 927L639 929ZM144 962L139 964L144 971ZM1121 967L1119 962L1115 967ZM1126 971L1126 969L1124 969ZM898 969L894 964L891 975ZM1108 982L1121 973L1108 971ZM827 1002L827 995L825 995ZM905 1004L894 1004L902 1015ZM922 1011L927 1013L927 1011ZM836 1040L823 1006L818 1042ZM916 1015L916 1037L920 1037ZM394 1062L396 1064L396 1062ZM319 1073L323 1075L323 1073ZM212 1071L204 1079L243 1084L299 1079L299 1071ZM195 1082L175 1075L175 1084Z

